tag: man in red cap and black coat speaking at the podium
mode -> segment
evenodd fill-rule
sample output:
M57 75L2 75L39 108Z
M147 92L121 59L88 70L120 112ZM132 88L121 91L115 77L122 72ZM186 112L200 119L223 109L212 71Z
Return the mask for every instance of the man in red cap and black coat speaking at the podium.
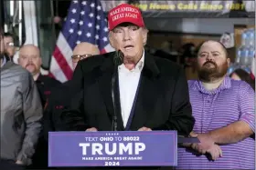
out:
M194 118L181 67L144 52L148 30L133 5L108 15L116 52L80 61L73 75L71 108L62 113L69 131L176 130L189 135Z

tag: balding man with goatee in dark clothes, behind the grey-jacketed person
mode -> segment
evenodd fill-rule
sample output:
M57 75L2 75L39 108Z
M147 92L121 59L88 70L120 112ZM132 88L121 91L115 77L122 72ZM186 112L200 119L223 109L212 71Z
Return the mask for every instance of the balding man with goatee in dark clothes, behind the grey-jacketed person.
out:
M27 71L33 75L41 97L42 105L45 106L51 90L54 87L61 85L61 83L47 75L40 74L42 58L40 57L39 48L36 45L22 46L19 50L18 64L26 68Z

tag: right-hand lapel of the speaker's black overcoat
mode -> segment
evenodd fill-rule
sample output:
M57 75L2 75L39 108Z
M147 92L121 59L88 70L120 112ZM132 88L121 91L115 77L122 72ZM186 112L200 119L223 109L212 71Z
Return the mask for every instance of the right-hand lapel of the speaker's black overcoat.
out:
M152 113L151 105L155 104L157 98L157 77L160 74L155 59L152 55L145 54L144 68L141 74L141 83L138 86L138 95L134 108L133 121L131 130L138 130L146 125L146 121L150 113Z

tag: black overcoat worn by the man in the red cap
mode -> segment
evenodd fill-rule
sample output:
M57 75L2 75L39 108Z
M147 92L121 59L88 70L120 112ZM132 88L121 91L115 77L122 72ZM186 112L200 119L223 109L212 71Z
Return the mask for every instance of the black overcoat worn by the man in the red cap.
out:
M95 127L112 130L111 81L113 55L96 55L81 60L73 75L75 95L70 109L62 113L63 124L71 131ZM144 68L130 130L145 126L153 130L176 130L188 135L195 122L189 103L187 79L183 69L163 58L144 56ZM122 92L121 92L122 93ZM124 130L118 115L118 130Z

